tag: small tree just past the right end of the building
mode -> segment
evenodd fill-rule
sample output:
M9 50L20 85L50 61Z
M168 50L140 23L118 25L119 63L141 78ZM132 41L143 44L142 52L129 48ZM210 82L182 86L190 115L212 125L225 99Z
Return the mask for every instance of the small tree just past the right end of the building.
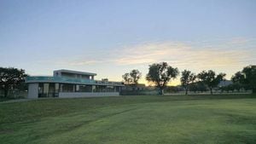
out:
M137 84L138 80L142 78L142 72L131 70L130 73L125 73L122 78L125 80L125 84Z

